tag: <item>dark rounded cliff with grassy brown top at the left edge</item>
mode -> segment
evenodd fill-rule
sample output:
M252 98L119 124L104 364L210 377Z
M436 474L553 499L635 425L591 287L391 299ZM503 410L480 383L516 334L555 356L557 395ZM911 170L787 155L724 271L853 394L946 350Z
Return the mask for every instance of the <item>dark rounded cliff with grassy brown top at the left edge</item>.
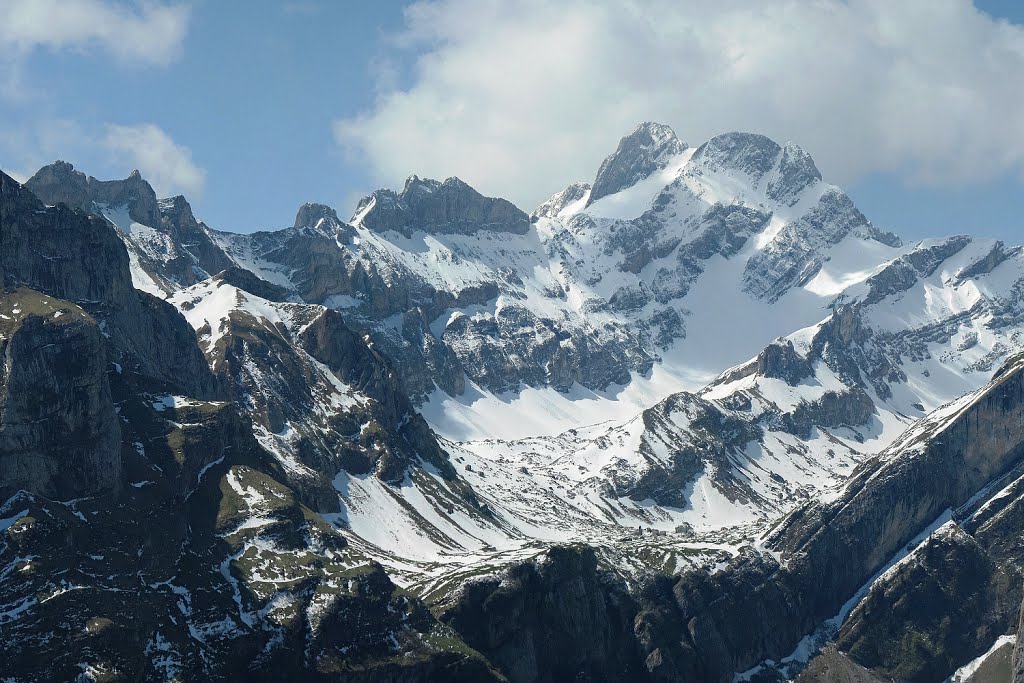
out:
M121 429L96 322L27 289L0 297L0 499L115 493Z

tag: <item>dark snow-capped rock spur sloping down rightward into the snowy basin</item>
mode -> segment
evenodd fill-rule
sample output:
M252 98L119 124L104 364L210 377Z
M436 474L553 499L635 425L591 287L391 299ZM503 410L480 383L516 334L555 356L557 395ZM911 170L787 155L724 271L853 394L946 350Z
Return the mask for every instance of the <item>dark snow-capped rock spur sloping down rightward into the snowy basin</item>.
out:
M247 272L247 271L243 271ZM457 500L478 506L390 362L345 324L312 304L270 301L229 271L182 290L172 302L197 329L228 396L262 445L287 463L288 481L323 512L339 511L335 478L372 474L399 485L430 468ZM204 305L220 301L212 310Z

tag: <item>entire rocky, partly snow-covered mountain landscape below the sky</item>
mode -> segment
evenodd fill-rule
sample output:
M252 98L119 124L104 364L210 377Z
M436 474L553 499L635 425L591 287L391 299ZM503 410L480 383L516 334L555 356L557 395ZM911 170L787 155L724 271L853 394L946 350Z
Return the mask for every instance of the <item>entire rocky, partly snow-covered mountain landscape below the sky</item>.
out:
M56 162L0 272L2 680L1024 681L1024 249L794 143L250 233Z

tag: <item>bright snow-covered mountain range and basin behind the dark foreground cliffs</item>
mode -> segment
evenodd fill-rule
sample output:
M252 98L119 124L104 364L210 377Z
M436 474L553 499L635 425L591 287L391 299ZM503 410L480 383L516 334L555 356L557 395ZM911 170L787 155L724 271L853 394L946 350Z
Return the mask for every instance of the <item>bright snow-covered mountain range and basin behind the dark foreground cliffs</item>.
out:
M237 234L137 173L58 162L26 187L101 217L141 300L191 327L203 399L250 425L261 471L438 613L551 544L630 586L777 560L767 529L841 506L1024 346L1024 250L904 245L752 133L694 147L641 124L530 214L412 176L348 221L306 204ZM193 405L176 391L151 403Z

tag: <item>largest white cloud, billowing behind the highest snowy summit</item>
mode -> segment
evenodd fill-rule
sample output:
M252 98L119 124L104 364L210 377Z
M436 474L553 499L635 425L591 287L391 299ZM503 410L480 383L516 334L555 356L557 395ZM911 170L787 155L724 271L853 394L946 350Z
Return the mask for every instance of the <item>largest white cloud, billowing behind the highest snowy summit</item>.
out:
M459 175L529 208L645 120L794 140L841 183L1024 170L1024 29L969 0L438 0L406 29L413 85L334 126L388 185Z

